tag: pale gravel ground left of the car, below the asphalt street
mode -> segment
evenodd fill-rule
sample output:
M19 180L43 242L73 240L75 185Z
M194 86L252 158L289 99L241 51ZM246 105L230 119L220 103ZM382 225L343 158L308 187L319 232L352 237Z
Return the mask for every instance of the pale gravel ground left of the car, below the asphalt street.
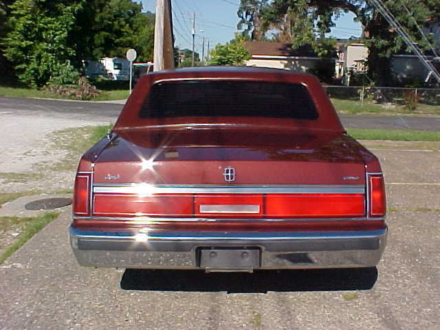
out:
M14 113L0 115L0 140L4 143L0 153L0 192L55 192L72 188L73 171L54 168L69 154L56 146L55 132L109 124L103 120L49 119Z

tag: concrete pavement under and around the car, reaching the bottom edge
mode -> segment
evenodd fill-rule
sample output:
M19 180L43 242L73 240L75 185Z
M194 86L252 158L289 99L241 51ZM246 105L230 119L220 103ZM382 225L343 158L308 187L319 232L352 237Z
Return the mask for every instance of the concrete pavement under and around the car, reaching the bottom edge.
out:
M391 208L377 268L203 274L80 267L67 211L0 265L0 329L440 329L439 145L371 143Z

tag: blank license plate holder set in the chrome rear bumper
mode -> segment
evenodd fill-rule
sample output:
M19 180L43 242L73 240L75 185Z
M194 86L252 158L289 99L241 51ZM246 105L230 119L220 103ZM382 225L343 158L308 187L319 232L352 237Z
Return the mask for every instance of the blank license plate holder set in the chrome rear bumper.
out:
M253 270L261 267L259 248L201 248L199 265L205 270Z

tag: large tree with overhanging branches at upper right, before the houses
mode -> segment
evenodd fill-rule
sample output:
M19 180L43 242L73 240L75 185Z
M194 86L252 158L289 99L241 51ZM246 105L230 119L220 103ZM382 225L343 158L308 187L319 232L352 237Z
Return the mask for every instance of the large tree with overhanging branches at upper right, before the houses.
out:
M423 26L427 17L436 17L440 9L439 0L382 0L397 21L410 34L412 41L422 50L428 44L421 36L417 24ZM241 4L250 0L241 0ZM406 5L410 13L404 8ZM325 34L330 32L334 21L343 12L353 12L355 21L364 26L364 43L369 47L369 75L380 85L390 77L390 61L393 54L408 52L410 48L395 33L393 28L375 8L371 0L274 0L259 8L263 31L278 30L279 39L290 40L294 47L310 44L319 54L329 51ZM240 17L240 15L239 15ZM248 24L252 25L253 21ZM416 24L417 22L417 24ZM325 47L322 47L325 46Z

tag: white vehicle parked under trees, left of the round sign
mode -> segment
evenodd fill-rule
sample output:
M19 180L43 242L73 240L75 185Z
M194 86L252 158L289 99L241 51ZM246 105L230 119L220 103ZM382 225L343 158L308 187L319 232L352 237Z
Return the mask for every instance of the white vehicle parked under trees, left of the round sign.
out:
M99 61L85 61L85 74L89 78L106 76L111 80L130 80L130 62L126 58L102 57Z

